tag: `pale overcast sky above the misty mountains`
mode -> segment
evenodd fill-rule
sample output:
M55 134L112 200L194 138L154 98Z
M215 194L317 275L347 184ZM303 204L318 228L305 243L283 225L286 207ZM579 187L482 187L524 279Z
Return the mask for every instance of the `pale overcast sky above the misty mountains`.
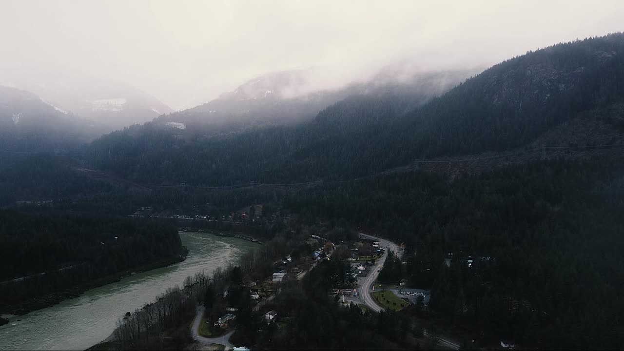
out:
M335 83L406 58L489 66L623 19L619 0L0 0L0 69L70 67L183 109L266 72L324 67Z

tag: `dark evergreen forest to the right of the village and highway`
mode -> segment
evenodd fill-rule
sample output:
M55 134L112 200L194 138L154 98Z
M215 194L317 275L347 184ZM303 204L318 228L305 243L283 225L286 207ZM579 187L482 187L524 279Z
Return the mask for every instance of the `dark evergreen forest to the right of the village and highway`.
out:
M487 342L613 349L624 335L618 164L550 161L453 182L386 175L298 192L286 207L405 244L407 264L388 262L380 279L431 289L429 317Z

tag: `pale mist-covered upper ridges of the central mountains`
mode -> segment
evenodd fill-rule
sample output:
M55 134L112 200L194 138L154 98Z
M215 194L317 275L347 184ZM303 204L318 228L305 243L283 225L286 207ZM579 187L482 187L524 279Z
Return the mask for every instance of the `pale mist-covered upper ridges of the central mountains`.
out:
M316 86L313 71L281 71L265 74L192 109L160 116L157 124L193 132L232 132L240 128L290 125L311 120L318 112L353 96L402 96L404 109L438 96L474 71L379 71L364 82L326 89ZM411 102L407 102L411 101ZM187 132L188 133L188 132Z

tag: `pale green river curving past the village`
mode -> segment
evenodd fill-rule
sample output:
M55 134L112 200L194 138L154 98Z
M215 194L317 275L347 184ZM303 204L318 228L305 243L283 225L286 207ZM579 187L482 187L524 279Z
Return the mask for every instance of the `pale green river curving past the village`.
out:
M85 292L75 299L12 317L0 327L0 350L84 350L106 339L115 322L173 285L182 286L187 275L235 263L258 244L213 234L184 232L182 245L189 254L183 262L137 273L119 282ZM17 321L19 319L19 321Z

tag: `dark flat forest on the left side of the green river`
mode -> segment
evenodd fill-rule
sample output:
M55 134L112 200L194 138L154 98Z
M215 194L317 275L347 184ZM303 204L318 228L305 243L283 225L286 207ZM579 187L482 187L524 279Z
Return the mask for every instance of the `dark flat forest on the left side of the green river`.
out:
M0 305L46 307L68 289L181 255L180 236L165 223L0 211Z

